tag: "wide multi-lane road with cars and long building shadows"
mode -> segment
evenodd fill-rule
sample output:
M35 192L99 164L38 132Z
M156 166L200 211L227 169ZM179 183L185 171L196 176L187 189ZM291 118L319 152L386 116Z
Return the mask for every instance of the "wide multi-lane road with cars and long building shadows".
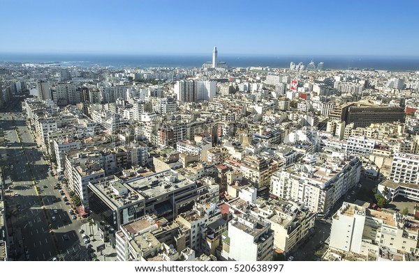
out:
M13 196L8 200L12 207L8 210L18 210L11 226L22 230L25 251L18 260L86 259L87 249L78 233L82 221L72 219L68 213L71 205L66 205L59 189L54 189L58 180L50 174L50 166L34 142L20 102L9 104L0 116L8 146L8 157L1 165L6 165L6 173L13 180Z

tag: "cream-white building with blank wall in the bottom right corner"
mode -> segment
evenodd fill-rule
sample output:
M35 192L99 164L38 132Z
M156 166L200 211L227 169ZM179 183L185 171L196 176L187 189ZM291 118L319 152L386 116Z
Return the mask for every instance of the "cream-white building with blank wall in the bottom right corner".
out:
M367 208L368 203L346 203L332 217L330 247L369 258L406 251L418 255L419 223L394 213Z

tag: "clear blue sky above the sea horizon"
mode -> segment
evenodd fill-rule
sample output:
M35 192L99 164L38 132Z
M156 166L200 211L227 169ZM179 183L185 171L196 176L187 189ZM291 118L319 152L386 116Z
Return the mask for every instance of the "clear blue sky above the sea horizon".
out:
M419 1L1 0L0 52L419 56Z

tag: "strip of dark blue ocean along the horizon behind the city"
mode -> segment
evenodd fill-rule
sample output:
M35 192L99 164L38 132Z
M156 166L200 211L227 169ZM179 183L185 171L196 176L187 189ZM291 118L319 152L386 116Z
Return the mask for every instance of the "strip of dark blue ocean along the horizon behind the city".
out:
M117 55L117 54L1 54L0 61L19 63L57 63L63 67L108 67L108 68L191 68L211 61L209 55ZM419 57L392 56L218 56L219 62L230 67L289 68L291 61L304 65L312 60L316 65L323 62L323 69L346 70L348 68L419 71Z

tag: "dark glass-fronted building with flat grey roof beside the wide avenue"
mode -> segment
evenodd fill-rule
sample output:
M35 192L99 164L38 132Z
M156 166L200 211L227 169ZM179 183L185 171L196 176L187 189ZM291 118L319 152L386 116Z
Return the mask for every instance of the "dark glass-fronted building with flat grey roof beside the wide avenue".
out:
M171 221L191 210L197 197L196 183L178 178L174 171L140 175L126 182L112 176L89 184L91 215L115 229L145 214Z

